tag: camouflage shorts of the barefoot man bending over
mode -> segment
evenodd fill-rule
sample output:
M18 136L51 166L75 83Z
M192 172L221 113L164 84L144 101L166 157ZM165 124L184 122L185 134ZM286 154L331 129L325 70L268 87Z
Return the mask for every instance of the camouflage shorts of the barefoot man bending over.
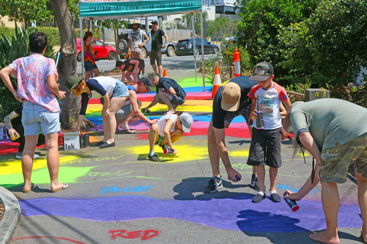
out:
M321 152L323 168L320 171L322 182L344 183L347 181L349 166L354 163L355 170L367 178L367 133Z

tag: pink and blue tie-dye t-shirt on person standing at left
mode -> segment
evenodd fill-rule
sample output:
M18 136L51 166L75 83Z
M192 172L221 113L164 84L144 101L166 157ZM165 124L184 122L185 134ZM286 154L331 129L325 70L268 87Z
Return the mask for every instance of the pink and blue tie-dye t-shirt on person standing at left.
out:
M50 112L60 112L55 94L47 85L47 77L59 74L54 59L32 53L27 57L17 58L9 67L16 73L17 93L20 98L44 106Z

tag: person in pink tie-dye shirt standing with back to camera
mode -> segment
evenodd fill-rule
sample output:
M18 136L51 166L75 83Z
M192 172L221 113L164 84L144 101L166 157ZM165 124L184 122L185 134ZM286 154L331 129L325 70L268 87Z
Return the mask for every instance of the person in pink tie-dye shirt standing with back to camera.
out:
M29 36L31 54L17 58L0 71L0 77L14 97L23 102L22 124L25 145L21 158L24 178L23 192L30 192L36 185L31 182L33 155L37 145L37 135L43 133L47 148L47 167L51 179L51 192L68 187L58 181L60 131L60 107L57 98L65 98L59 90L58 73L53 59L43 56L46 51L47 36L34 32ZM17 78L17 90L10 76Z

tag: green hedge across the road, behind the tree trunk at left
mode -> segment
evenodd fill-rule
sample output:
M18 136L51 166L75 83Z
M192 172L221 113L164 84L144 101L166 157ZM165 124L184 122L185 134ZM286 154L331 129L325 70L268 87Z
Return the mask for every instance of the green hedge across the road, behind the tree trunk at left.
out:
M83 33L85 33L87 29L83 29ZM59 34L59 28L58 27L47 27L47 26L39 26L36 27L36 32L43 32L46 33L47 37L52 36L53 37L53 45L54 46L60 46L60 34ZM12 36L15 34L15 28L9 28L5 26L0 26L0 36L6 35L6 36ZM75 36L76 38L80 37L80 29L75 28ZM93 38L95 39L101 39L101 30L100 29L93 29Z

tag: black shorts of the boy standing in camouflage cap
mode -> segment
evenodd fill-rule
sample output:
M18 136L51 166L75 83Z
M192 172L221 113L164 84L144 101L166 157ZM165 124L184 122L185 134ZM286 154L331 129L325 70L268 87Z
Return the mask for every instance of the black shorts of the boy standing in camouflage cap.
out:
M252 128L252 139L249 150L248 165L273 168L281 166L281 128L257 130Z

